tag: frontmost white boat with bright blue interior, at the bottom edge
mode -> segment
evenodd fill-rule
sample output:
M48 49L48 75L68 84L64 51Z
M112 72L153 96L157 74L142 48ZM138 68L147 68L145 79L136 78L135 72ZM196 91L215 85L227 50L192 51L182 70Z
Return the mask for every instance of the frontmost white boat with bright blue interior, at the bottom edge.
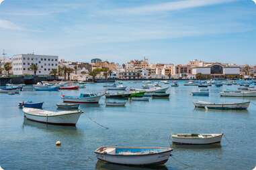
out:
M171 156L171 148L163 147L99 147L97 159L121 165L163 165Z

